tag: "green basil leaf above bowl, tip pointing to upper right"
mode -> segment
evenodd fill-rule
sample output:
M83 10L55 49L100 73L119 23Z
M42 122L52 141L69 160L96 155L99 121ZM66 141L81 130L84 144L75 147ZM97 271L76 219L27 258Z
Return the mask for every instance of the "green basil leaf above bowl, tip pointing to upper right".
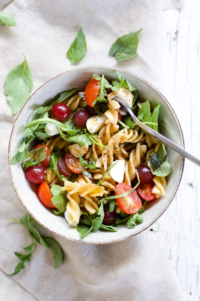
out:
M109 55L114 56L116 61L124 61L136 55L138 47L138 35L142 29L135 33L121 36L112 44Z

